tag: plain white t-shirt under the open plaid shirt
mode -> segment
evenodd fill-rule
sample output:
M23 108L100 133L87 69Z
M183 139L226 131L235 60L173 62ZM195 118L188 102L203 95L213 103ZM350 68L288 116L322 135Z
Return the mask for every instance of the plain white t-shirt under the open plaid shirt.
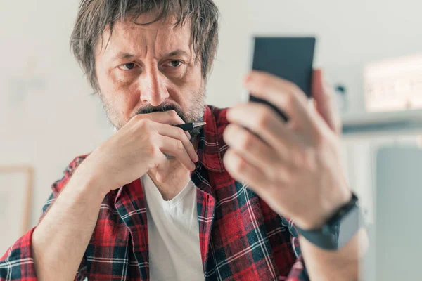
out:
M150 280L204 280L199 247L196 187L191 180L165 201L151 178L141 178L146 196Z

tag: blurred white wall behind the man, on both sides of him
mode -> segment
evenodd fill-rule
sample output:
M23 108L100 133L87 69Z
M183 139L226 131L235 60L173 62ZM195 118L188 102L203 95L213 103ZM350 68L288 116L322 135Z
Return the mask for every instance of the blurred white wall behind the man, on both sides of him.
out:
M318 36L316 65L346 84L356 112L364 63L422 51L422 3L414 0L215 2L222 25L207 101L220 107L241 100L251 34ZM63 168L111 133L69 51L78 4L0 1L0 164L34 166L32 224Z

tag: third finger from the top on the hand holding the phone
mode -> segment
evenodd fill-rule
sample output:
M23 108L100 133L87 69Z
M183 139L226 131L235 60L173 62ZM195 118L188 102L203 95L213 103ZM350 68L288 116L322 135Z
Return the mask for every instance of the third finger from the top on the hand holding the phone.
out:
M223 134L229 147L255 166L274 165L279 161L278 153L257 138L253 133L236 124L229 124Z

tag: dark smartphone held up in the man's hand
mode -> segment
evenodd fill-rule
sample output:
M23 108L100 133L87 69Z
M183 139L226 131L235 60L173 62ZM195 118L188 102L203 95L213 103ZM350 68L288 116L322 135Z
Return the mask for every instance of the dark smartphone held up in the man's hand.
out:
M291 81L310 97L315 44L315 37L254 37L252 70L269 72ZM284 112L267 100L257 98L253 93L248 93L248 100L267 104L288 120Z

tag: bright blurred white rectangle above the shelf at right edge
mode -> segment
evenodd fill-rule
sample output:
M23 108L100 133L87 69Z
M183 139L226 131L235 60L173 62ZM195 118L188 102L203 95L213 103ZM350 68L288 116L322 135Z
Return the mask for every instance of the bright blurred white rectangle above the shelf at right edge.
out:
M367 112L422 108L422 54L369 63L364 68Z

